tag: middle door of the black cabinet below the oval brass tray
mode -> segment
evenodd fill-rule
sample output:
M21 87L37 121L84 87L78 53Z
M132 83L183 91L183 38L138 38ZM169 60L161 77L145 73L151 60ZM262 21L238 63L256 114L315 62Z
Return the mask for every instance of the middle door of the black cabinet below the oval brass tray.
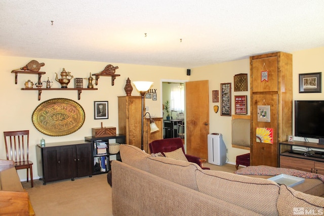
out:
M76 176L75 146L61 146L59 160L60 179L73 179Z

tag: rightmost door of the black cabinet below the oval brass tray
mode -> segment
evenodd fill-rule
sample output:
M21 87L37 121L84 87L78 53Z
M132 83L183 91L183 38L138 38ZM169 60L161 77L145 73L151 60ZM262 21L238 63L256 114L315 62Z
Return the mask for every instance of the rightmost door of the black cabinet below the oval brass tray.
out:
M76 147L76 163L77 163L77 177L91 176L92 163L91 163L91 145L80 144Z

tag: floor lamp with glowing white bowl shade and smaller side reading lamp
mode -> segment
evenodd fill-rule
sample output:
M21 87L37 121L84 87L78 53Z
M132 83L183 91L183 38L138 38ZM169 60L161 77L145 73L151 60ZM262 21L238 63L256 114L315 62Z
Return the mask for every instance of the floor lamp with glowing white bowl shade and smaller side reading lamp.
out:
M134 85L135 85L135 88L140 92L141 96L142 96L142 109L141 109L141 118L142 118L142 131L141 131L141 149L143 150L144 148L144 141L143 141L143 125L144 125L144 116L148 113L146 112L144 115L143 115L143 110L144 110L144 96L147 92L147 90L150 89L151 85L153 84L153 82L149 82L149 81L134 81L133 82ZM157 131L158 128L156 126L156 124L154 123L153 119L151 118L151 115L148 113L149 117L150 117L150 128L151 128L151 133L154 132L154 131Z

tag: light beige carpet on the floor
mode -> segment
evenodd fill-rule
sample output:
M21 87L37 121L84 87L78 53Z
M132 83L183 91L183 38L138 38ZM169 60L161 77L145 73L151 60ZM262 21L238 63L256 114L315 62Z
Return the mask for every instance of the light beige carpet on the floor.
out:
M232 164L217 166L204 163L204 166L231 173L236 170ZM22 182L22 185L29 194L36 216L112 215L111 188L106 174L75 178L74 181L50 182L46 185L43 185L43 181L34 180L33 188L30 187L30 182Z

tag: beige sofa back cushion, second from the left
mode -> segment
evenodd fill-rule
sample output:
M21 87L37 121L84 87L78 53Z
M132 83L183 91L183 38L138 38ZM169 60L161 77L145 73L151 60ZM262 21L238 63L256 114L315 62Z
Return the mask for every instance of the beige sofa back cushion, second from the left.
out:
M147 164L151 174L198 190L195 170L201 168L197 164L167 157L150 157L147 159Z

